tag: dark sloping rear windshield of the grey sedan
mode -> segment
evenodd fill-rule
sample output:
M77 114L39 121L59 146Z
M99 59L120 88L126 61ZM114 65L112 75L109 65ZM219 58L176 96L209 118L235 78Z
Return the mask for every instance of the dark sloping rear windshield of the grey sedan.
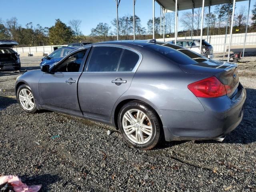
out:
M161 54L162 56L170 59L171 61L174 61L178 64L182 65L190 65L190 64L196 64L198 62L194 61L192 58L186 56L182 52L179 52L173 48L169 48L167 46L161 46L158 44L153 44L150 46L147 46L150 50Z

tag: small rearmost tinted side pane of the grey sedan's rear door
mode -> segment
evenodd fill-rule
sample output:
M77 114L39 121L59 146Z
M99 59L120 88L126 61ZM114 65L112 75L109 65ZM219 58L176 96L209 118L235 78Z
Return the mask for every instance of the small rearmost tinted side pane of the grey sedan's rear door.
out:
M136 54L135 52L124 49L120 64L118 66L118 71L119 72L132 71L136 66L139 58L140 58L139 55Z

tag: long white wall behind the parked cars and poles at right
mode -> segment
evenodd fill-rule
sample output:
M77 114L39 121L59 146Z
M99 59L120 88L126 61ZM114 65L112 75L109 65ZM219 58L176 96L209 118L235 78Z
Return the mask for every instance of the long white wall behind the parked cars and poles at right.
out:
M226 39L226 49L229 44L229 34ZM240 34L232 34L232 44L231 45L244 45L244 37L245 33ZM186 39L190 39L190 37L186 37ZM200 38L200 36L193 36L193 38ZM178 39L185 39L184 37L178 37ZM203 36L203 39L207 40L207 36ZM158 41L163 41L163 39L157 39ZM174 40L174 38L165 38L165 42ZM208 42L213 46L214 53L223 53L224 51L224 42L225 35L212 35L209 36ZM246 45L256 45L256 32L247 33L246 36Z

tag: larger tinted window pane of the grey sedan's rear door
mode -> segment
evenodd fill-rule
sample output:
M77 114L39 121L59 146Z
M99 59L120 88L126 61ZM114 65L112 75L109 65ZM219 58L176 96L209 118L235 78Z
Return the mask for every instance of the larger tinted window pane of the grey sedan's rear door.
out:
M111 46L94 47L87 72L115 72L123 49Z

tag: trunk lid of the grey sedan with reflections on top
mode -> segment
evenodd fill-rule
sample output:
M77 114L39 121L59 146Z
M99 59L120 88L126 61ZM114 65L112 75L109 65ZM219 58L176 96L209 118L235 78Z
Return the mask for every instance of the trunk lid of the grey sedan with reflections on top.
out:
M230 92L228 93L230 98L237 92L239 77L236 64L218 60L207 60L197 64L180 65L180 68L186 73L215 76L222 84L230 86Z

